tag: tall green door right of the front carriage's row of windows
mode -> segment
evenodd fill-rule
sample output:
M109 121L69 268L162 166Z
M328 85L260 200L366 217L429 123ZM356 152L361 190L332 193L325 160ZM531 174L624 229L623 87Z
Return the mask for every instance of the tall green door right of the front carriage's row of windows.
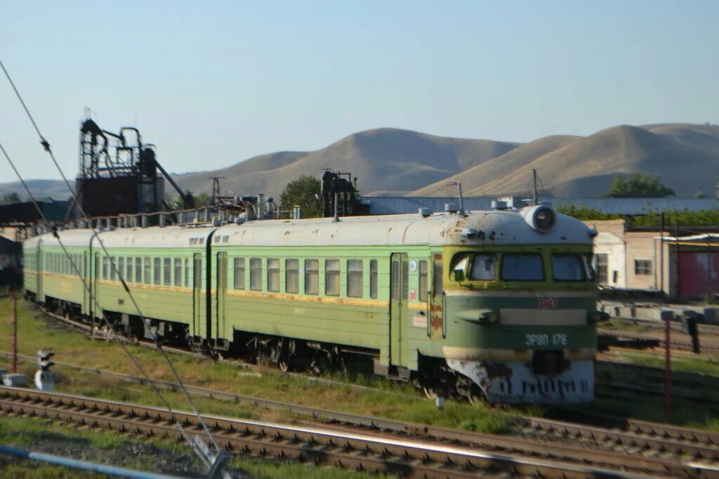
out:
M390 280L390 362L403 366L408 360L409 342L409 262L407 253L391 257Z

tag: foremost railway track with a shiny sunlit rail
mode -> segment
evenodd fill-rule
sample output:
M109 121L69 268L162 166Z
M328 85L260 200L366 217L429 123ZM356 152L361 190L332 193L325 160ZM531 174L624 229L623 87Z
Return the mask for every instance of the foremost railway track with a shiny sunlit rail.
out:
M143 436L180 438L167 411L117 401L0 387L0 411ZM176 415L188 432L203 436L196 416ZM422 427L411 434L383 428L382 424L367 430L367 426L349 426L346 422L308 426L219 416L203 416L203 420L216 442L235 452L406 477L719 477L719 470L708 462L627 455L488 434L452 432L452 437L441 439L440 428Z

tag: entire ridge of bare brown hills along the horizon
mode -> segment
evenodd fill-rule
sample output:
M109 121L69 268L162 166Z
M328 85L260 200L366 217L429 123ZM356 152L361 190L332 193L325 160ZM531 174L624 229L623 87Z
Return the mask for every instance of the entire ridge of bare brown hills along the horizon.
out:
M172 169L171 164L165 167ZM224 176L223 193L278 197L289 181L303 174L319 177L325 168L352 173L368 196L446 196L446 184L452 179L462 181L468 196L526 193L532 169L538 170L545 191L558 197L597 197L607 191L614 175L634 172L660 175L677 196L693 196L699 190L713 196L719 173L719 126L620 125L587 137L553 135L528 143L380 128L350 134L320 150L274 152L219 170L173 174L173 178L193 193L209 193L207 178ZM59 181L30 183L38 196L69 196ZM17 182L0 183L0 195L11 192L27 196Z

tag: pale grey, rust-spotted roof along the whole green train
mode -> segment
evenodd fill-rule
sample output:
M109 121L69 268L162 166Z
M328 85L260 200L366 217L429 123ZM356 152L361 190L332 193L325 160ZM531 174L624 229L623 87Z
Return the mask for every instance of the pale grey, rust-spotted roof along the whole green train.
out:
M521 210L475 211L457 214L393 214L385 216L316 219L264 219L221 227L150 227L102 231L99 237L109 248L197 248L206 247L214 232L215 247L232 246L383 246L383 245L591 245L592 229L570 216L556 214L546 232L531 227ZM67 246L88 246L89 229L60 232ZM42 245L58 245L52 234L37 237ZM26 247L31 245L28 239ZM37 244L37 243L34 243ZM93 247L99 247L93 241Z

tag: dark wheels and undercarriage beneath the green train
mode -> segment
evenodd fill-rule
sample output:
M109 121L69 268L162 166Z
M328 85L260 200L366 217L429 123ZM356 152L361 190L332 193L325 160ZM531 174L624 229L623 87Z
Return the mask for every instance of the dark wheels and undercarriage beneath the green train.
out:
M33 296L29 294L31 301L36 299ZM110 333L104 320L81 314L79 304L46 296L46 302L41 306L66 319L90 325L98 332ZM209 357L273 366L283 372L320 374L353 370L356 373L374 373L390 380L413 383L432 400L444 397L466 399L470 403L513 402L502 400L502 395L507 392L505 390L509 388L511 391L513 387L511 382L497 381L496 378L490 377L487 371L506 371L520 366L519 363L513 365L458 362L420 354L418 370L410 371L393 365L381 365L379 350L237 330L234 331L232 341L223 340L215 343L212 340L192 337L189 334L188 324L147 318L145 324L139 316L114 311L104 311L104 315L111 325L112 334L119 334L134 341L157 342L166 347L180 348ZM526 368L531 374L536 373L549 380L535 380L530 388L546 388L547 391L551 388L576 390L574 383L561 380L562 368L567 369L567 364L569 363L562 355L557 355L555 352L536 354L533 363ZM522 373L523 369L519 368L518 371ZM516 371L513 373L517 374ZM582 387L580 385L580 388ZM593 388L591 396L593 397Z

